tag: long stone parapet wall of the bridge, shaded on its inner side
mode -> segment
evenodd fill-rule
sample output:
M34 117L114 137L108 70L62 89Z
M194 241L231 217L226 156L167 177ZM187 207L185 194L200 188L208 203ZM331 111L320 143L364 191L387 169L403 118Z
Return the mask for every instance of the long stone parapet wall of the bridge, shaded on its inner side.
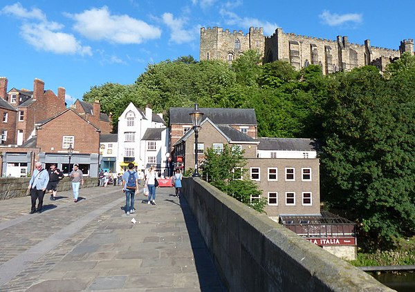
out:
M229 291L394 291L202 179L182 191Z

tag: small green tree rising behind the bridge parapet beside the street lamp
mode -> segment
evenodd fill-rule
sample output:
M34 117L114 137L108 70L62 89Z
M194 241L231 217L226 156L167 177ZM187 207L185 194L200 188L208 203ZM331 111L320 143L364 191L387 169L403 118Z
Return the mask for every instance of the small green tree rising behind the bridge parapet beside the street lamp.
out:
M243 157L243 150L225 144L221 152L214 148L206 150L203 175L223 193L259 212L264 212L266 199L253 199L252 202L250 199L251 195L258 197L262 193L257 184L248 179L240 179L246 177L243 175L247 171L244 166L246 159Z

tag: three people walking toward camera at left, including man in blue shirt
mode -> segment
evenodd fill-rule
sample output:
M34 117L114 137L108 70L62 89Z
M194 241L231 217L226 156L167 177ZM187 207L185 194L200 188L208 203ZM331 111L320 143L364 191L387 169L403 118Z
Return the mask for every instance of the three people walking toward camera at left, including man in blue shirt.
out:
M76 203L78 201L80 186L84 184L84 176L77 164L74 164L73 171L71 171L68 176L71 179L73 202ZM36 162L35 171L33 171L33 175L30 177L28 186L30 199L32 201L30 214L42 213L43 200L46 191L50 192L50 199L55 201L57 184L59 183L59 179L62 179L63 177L64 173L56 168L56 164L50 165L50 169L45 170L42 166L42 162Z

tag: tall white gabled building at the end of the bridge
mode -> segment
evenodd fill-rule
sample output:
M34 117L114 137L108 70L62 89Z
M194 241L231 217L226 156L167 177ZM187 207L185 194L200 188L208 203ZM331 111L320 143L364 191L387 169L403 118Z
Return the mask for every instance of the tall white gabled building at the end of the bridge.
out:
M169 131L162 114L151 108L141 110L130 103L118 118L117 172L125 171L129 162L144 171L154 165L165 170Z

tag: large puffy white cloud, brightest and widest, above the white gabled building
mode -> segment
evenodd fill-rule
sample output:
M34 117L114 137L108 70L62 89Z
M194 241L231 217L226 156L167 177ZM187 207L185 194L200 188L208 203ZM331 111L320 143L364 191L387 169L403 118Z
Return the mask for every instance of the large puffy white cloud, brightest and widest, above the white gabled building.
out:
M111 43L142 43L146 39L158 39L161 30L128 15L115 15L107 6L92 8L78 14L67 14L76 23L73 29L88 39Z

